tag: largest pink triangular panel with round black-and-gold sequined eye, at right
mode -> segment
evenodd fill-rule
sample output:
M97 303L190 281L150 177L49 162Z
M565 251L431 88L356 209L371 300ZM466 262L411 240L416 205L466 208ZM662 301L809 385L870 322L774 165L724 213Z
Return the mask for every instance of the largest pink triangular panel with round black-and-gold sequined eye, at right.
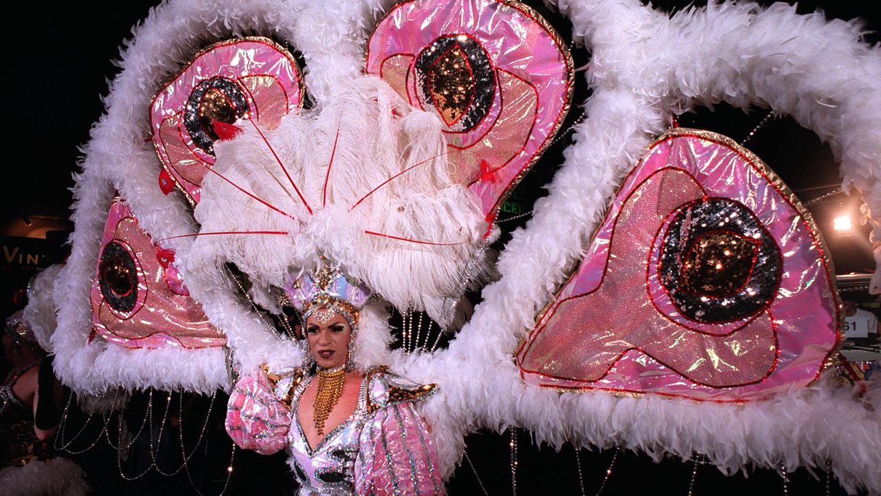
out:
M745 401L816 380L839 325L795 195L732 140L674 129L626 178L517 360L542 387Z

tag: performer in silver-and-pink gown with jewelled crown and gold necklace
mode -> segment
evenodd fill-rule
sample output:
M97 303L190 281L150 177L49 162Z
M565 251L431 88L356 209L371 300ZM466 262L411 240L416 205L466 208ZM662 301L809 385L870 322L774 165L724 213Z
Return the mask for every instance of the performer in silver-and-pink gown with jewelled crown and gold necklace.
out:
M370 290L324 265L285 288L305 328L304 364L244 376L230 395L226 431L240 447L283 447L300 495L442 494L426 421L414 404L435 391L353 361Z

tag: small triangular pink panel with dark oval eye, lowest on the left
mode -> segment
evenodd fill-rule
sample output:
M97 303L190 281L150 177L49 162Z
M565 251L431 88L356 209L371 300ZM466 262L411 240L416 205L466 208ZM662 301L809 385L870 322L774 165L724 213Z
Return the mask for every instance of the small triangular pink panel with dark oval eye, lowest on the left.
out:
M226 337L211 326L174 267L174 252L153 244L130 207L107 214L91 298L94 334L125 348L211 348Z

